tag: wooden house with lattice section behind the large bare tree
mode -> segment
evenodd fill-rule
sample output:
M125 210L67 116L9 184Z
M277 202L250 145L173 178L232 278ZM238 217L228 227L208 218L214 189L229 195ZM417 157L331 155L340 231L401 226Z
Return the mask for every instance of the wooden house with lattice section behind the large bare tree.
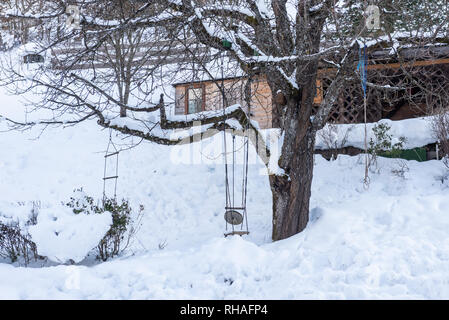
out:
M401 120L424 116L432 113L435 108L447 106L443 96L449 95L449 46L412 48L404 50L401 55L403 60L397 61L393 60L386 50L373 50L369 54L368 81L377 86L368 86L367 89L368 122L377 122L384 118ZM321 103L334 73L335 69L332 68L323 66L319 69L314 99L316 107ZM419 80L417 82L421 85L410 81L410 76ZM173 85L176 96L175 114L222 109L224 103L219 90L222 82L227 105L238 103L247 108L247 103L244 102L246 81L244 77L235 77L176 83ZM278 97L273 99L265 76L252 79L250 115L252 119L258 121L261 128L272 127L272 106L276 101L279 104ZM345 86L328 121L332 123L364 121L360 79L354 78Z

